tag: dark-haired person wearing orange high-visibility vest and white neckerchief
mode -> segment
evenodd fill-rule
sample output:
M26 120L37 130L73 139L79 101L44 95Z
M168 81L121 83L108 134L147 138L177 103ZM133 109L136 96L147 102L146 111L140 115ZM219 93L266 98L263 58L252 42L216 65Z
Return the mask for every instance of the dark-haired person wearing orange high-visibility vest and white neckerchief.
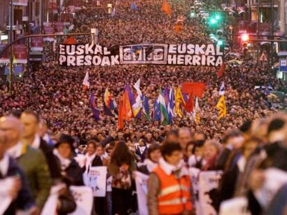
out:
M182 148L165 142L162 158L148 180L148 213L150 215L192 214L191 180L184 167Z

